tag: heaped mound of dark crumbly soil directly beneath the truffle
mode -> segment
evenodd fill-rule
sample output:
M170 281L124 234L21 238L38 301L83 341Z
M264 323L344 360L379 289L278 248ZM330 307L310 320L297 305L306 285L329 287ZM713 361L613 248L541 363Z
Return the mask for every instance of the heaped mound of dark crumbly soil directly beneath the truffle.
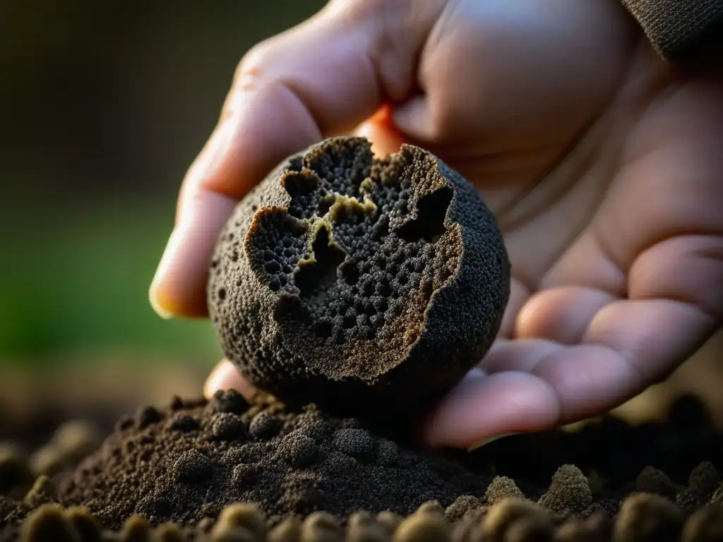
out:
M249 408L226 392L204 406L140 410L59 484L59 499L113 528L133 514L194 525L234 502L254 502L276 522L320 509L406 515L428 500L448 506L460 495L482 496L488 482L354 419L314 406Z

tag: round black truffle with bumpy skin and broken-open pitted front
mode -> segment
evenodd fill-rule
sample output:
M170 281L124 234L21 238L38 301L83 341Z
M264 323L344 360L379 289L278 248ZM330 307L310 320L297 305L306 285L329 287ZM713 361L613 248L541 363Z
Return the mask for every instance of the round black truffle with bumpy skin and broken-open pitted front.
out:
M239 203L208 282L226 356L288 403L418 409L487 352L507 253L478 192L429 152L338 137ZM356 408L355 408L356 407Z

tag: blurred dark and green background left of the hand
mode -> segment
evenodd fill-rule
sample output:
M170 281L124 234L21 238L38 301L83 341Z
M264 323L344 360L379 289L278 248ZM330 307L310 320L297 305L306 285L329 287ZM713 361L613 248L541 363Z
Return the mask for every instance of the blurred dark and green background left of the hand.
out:
M322 0L0 3L0 360L221 356L147 288L254 43ZM6 365L7 366L7 365Z

